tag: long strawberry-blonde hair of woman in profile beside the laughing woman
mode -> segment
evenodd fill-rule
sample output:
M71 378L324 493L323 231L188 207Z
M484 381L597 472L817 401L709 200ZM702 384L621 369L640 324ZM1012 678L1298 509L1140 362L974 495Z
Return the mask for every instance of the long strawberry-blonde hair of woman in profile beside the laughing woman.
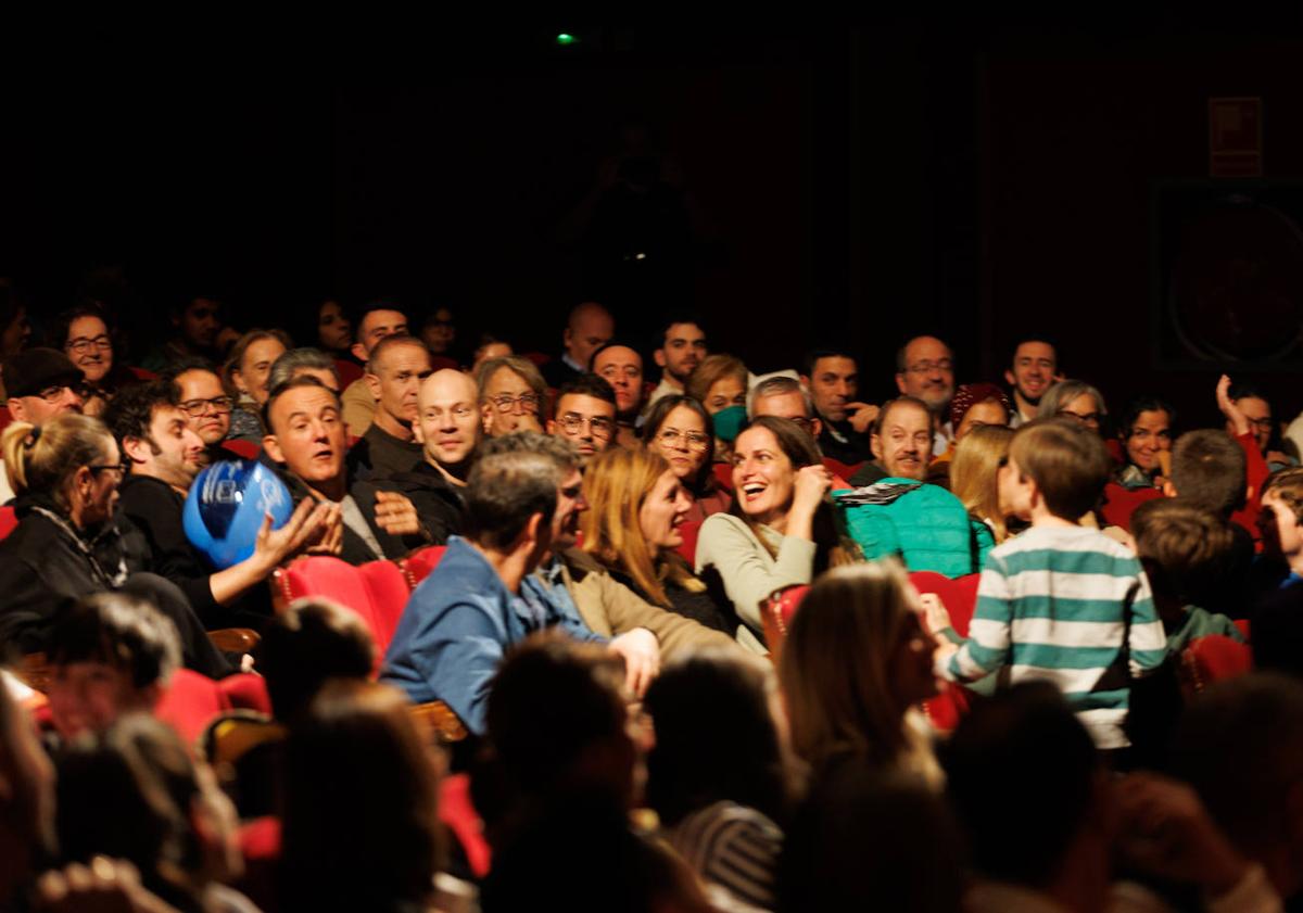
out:
M584 551L624 570L648 598L670 608L665 581L700 593L705 585L676 554L659 555L642 535L638 514L657 479L670 471L659 453L622 447L599 453L584 470Z

